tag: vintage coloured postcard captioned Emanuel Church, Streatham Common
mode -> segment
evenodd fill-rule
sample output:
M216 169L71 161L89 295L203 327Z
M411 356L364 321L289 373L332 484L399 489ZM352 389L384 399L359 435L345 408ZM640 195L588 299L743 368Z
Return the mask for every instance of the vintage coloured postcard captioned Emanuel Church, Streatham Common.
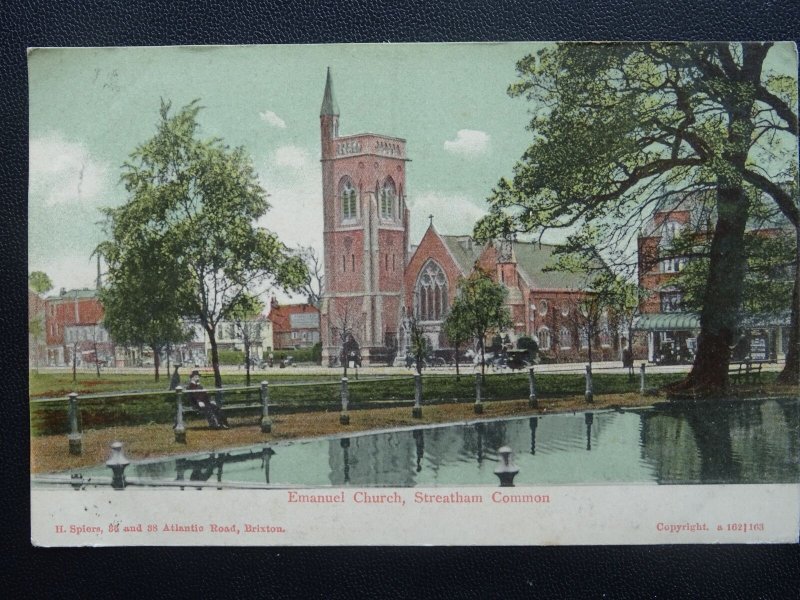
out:
M28 66L33 544L798 541L793 43Z

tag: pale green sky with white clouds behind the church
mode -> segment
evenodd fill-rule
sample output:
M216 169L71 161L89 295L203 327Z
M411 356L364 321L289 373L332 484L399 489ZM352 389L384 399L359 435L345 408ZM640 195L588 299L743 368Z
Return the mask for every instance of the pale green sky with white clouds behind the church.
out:
M126 201L120 166L154 133L161 99L200 99L202 137L243 146L289 246L322 250L319 111L333 74L340 135L407 140L411 242L428 214L469 234L530 143L531 106L506 93L542 43L50 48L29 51L28 269L94 287L102 207ZM790 64L794 47L770 60ZM544 241L557 242L551 238Z

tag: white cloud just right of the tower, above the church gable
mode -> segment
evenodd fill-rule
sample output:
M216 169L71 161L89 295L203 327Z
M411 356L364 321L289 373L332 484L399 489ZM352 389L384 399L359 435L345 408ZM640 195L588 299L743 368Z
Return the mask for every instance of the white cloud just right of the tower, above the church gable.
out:
M467 196L428 191L408 199L411 210L411 242L416 244L428 228L428 215L439 233L471 235L475 223L486 214L481 201Z

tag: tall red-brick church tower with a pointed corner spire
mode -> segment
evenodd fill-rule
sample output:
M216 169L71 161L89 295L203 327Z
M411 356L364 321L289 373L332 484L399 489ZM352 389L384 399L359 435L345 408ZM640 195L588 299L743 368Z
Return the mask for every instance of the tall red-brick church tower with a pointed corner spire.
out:
M325 290L323 364L355 349L365 363L385 361L397 344L408 261L406 142L363 133L339 135L330 68L320 110Z

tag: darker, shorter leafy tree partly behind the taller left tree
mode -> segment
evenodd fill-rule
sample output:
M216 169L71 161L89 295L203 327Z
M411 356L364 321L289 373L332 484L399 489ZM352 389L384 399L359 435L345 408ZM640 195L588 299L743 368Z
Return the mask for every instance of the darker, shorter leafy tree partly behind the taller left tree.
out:
M100 248L108 268L99 292L105 329L118 344L150 348L158 381L161 352L193 335L181 319L187 289L177 262L152 232L133 239L115 236Z

